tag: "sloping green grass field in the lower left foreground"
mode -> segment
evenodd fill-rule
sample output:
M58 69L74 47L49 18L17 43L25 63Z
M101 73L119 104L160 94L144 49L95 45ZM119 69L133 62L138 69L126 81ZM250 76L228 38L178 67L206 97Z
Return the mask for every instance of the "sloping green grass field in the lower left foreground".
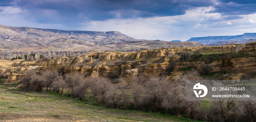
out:
M159 113L118 110L87 105L79 99L53 92L29 92L0 85L0 121L15 122L192 122Z

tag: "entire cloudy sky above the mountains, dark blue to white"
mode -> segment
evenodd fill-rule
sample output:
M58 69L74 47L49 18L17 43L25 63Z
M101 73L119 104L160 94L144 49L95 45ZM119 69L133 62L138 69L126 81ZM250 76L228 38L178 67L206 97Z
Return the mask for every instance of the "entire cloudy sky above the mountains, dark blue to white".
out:
M0 24L187 41L256 33L255 6L256 0L0 0Z

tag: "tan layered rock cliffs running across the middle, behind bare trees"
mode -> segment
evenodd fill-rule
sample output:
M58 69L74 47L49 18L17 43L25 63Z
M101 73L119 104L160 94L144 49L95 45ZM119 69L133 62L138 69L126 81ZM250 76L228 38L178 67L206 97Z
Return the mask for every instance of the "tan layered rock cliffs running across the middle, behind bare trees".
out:
M249 43L242 49L253 51L254 46ZM170 65L170 62L178 61L179 56L175 53L195 50L218 50L225 49L227 46L208 46L208 47L184 47L184 48L168 48L155 50L142 50L135 53L124 52L93 52L80 57L60 57L48 62L37 62L33 66L9 67L4 63L14 63L3 61L0 64L0 73L8 76L8 83L17 82L21 77L20 74L25 70L36 69L44 72L44 70L58 70L62 73L82 73L86 77L108 76L112 78L125 77L125 80L131 80L131 77L144 73L146 76L162 76ZM26 64L29 61L23 61ZM11 65L11 64L10 64ZM184 74L179 68L196 67L202 70L202 66L206 65L202 61L196 62L178 62L173 67L173 72L169 74L169 79L176 81ZM211 64L212 72L223 69L242 68L248 72L256 71L256 58L234 58L226 60L216 60ZM234 76L235 77L235 76Z

